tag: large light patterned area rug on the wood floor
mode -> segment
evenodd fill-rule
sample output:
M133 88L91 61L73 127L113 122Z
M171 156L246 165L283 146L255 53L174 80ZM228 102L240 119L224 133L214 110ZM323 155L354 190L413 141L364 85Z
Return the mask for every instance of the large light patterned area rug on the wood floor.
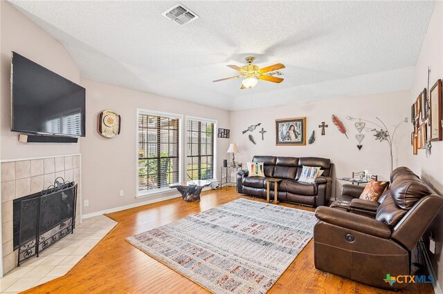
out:
M309 211L237 199L127 241L213 293L266 293L315 223Z

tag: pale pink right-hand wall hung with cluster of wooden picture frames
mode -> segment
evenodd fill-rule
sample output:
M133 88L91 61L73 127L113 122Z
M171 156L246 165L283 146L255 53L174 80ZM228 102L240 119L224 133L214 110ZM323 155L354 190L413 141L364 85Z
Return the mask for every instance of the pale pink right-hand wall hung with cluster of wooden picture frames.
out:
M443 78L443 2L437 1L428 31L423 41L415 66L414 84L411 90L409 103L417 99L423 88L428 89L428 66L431 67L429 77L429 88L433 86L437 79ZM429 90L429 89L428 89ZM440 195L443 194L443 141L433 141L431 156L426 157L424 150L418 150L418 155L412 157L412 167L415 173L420 175L425 182L428 182ZM433 269L440 285L443 284L443 211L435 218L430 231L437 242L436 254L428 251L428 255L433 264ZM426 247L428 235L424 236Z

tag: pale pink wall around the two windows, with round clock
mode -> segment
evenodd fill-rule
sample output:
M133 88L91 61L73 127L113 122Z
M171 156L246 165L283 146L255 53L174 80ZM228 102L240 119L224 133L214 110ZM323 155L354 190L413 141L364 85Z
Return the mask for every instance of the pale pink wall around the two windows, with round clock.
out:
M89 207L83 213L94 213L120 206L147 202L171 193L136 199L136 109L171 112L218 120L219 128L229 127L229 111L201 106L187 101L160 97L145 92L81 79L87 88L87 137L80 139L82 153L83 199L89 199ZM98 114L102 110L114 110L122 117L121 133L113 139L97 132ZM184 128L183 128L184 130ZM184 135L184 133L183 133ZM218 166L227 159L229 139L218 140ZM184 156L184 148L183 154ZM218 168L217 168L218 170ZM119 191L125 196L120 197Z

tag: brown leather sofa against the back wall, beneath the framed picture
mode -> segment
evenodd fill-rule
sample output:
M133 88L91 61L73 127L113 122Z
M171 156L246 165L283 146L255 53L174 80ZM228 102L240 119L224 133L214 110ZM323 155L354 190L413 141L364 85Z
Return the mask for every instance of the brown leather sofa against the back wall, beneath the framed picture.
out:
M277 198L280 202L294 202L309 206L327 205L331 198L330 159L320 157L275 157L254 156L253 162L264 163L265 177L248 177L248 170L237 173L237 192L260 198L266 198L267 178L282 179L278 183ZM313 184L298 182L303 166L319 166L323 175ZM274 183L269 184L271 199L274 197Z

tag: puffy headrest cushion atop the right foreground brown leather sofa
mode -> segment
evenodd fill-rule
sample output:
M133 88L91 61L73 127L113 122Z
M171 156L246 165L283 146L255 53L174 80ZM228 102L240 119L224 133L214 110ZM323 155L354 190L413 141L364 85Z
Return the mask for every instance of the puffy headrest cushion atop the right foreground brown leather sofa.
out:
M431 191L415 175L398 175L390 188L392 199L400 208L409 210L422 197Z

